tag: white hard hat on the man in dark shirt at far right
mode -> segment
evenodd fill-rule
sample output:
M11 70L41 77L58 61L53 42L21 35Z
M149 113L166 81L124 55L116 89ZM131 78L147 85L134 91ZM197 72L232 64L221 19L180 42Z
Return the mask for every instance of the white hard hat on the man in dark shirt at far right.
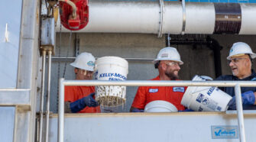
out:
M256 54L252 52L251 47L248 44L245 44L243 42L238 42L232 45L231 49L229 50L229 55L227 57L227 60L230 60L232 56L239 54L250 54L251 58L254 59L256 57Z

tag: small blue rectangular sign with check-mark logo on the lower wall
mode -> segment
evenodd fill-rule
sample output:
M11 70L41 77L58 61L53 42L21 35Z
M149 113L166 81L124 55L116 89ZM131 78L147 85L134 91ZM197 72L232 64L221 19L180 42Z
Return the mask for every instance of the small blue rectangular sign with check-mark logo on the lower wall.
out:
M238 139L238 126L211 126L212 139Z

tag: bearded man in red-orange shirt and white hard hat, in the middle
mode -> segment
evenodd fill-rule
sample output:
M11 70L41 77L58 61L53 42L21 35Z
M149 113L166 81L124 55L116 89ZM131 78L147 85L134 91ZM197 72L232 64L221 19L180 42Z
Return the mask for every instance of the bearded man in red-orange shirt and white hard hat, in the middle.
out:
M158 69L159 76L151 80L177 80L180 65L183 61L180 60L180 54L173 47L165 47L161 49L154 60L154 67ZM131 112L144 111L147 103L163 100L170 102L178 111L183 111L185 108L180 104L185 87L173 86L140 86L135 95L134 102L131 105Z

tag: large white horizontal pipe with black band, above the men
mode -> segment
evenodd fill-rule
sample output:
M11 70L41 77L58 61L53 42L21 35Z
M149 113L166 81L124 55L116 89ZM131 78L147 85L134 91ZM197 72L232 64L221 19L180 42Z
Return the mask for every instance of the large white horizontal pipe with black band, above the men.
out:
M185 9L184 9L185 8ZM89 24L75 32L256 34L256 5L89 1ZM184 19L183 19L184 17ZM57 23L60 31L60 21ZM62 27L62 32L68 32Z

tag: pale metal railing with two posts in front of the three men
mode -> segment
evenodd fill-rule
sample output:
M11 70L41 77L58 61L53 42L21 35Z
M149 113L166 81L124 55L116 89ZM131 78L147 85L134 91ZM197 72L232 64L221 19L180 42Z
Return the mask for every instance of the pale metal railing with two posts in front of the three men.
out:
M245 142L245 124L241 103L241 87L256 87L254 81L100 81L100 80L64 80L60 79L58 142L64 140L64 87L65 86L219 86L235 87L235 100L238 114L239 139Z

